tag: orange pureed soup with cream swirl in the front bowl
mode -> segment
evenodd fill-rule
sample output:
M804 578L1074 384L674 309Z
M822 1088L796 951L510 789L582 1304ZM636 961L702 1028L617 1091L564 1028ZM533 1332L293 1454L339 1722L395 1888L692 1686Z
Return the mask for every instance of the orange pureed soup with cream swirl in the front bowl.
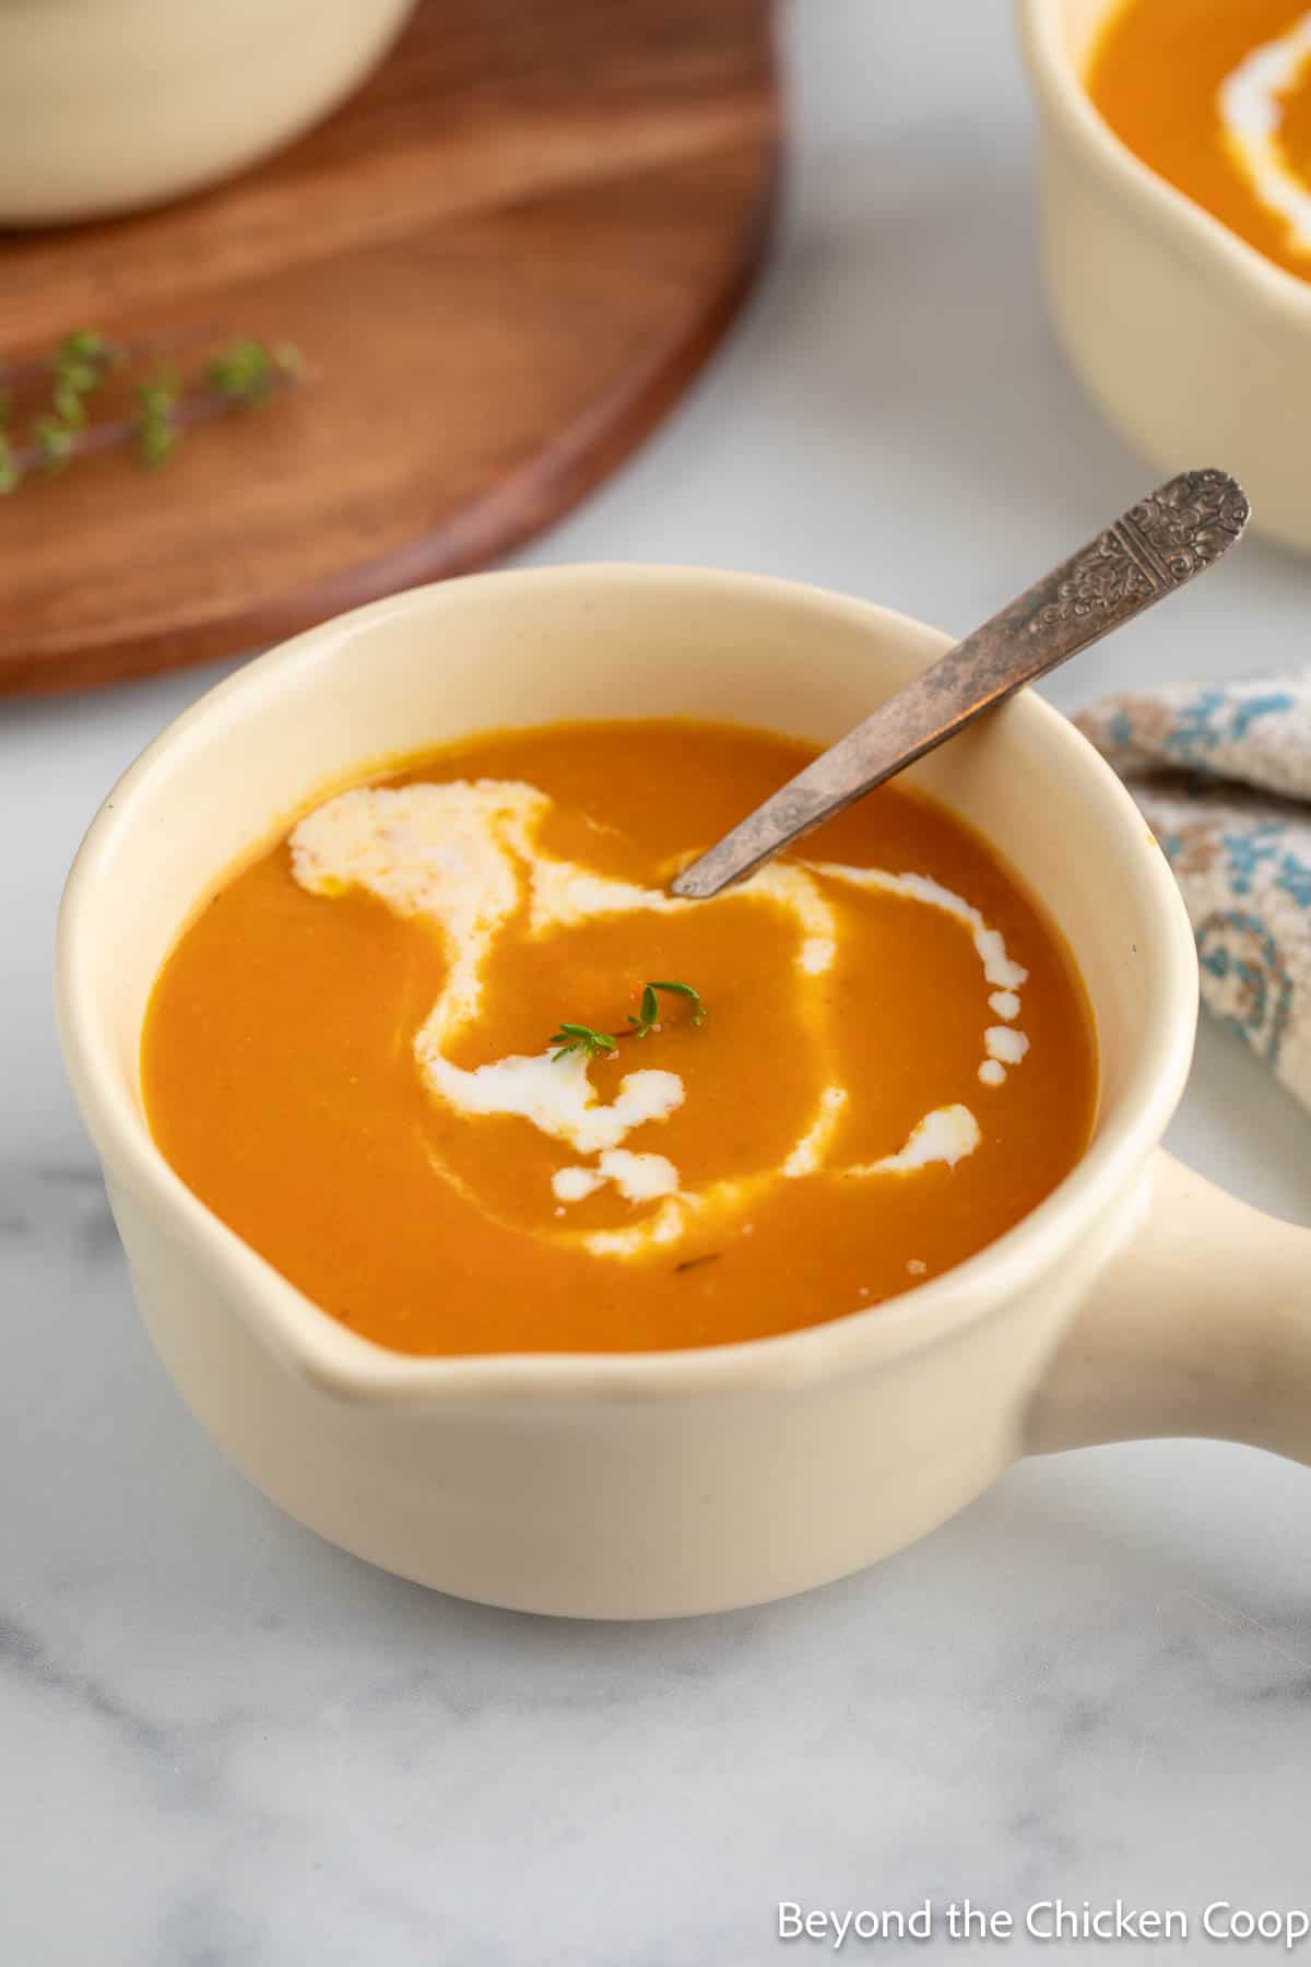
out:
M989 848L894 787L674 901L808 757L562 724L324 799L163 966L159 1149L409 1353L761 1338L969 1257L1083 1153L1083 987Z

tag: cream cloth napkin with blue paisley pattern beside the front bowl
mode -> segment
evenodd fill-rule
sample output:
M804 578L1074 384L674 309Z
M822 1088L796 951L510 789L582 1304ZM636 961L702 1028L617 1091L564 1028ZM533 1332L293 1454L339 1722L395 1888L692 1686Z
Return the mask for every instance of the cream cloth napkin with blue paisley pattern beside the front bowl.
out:
M1075 724L1169 858L1203 1003L1311 1105L1311 671L1111 696Z

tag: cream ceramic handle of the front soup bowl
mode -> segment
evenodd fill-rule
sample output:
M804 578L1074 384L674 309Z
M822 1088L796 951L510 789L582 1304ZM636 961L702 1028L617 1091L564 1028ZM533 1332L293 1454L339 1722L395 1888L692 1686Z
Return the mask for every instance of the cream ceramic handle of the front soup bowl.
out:
M1203 1434L1311 1463L1311 1229L1158 1153L1142 1222L1034 1397L1026 1450Z

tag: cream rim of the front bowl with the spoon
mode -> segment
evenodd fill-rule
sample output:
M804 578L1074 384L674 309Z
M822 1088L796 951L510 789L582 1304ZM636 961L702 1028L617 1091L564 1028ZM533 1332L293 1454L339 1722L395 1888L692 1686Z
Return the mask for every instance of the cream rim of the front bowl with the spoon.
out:
M379 620L440 614L448 596L466 598L474 588L507 582L537 584L542 592L568 586L596 592L598 586L611 586L625 594L635 586L656 584L682 588L690 598L715 590L717 598L729 600L751 596L767 604L790 602L820 618L829 616L884 637L892 631L922 647L936 641L945 649L951 643L949 635L904 614L796 580L704 566L586 563L470 574L411 588L336 616L246 663L175 718L118 779L83 838L63 891L55 932L59 1035L73 1090L110 1178L110 1196L134 1200L151 1216L159 1235L173 1245L185 1243L187 1255L218 1281L222 1294L256 1336L301 1379L342 1401L397 1408L452 1402L641 1404L829 1381L920 1353L963 1326L985 1320L1057 1265L1103 1218L1114 1218L1116 1237L1126 1235L1136 1220L1126 1198L1183 1092L1197 1023L1193 932L1160 850L1138 854L1130 864L1138 881L1138 913L1148 924L1146 948L1138 950L1148 980L1142 1043L1116 1090L1114 1105L1099 1115L1087 1153L1038 1208L977 1255L898 1298L826 1324L670 1351L399 1353L338 1324L187 1188L155 1147L140 1100L124 1086L112 1044L100 1031L96 932L90 919L108 864L122 850L124 834L136 824L140 810L149 806L155 779L165 769L175 769L177 755L185 757L189 747L204 744L210 726L248 726L250 716L257 714L259 698L271 688L305 690L320 665L338 661ZM930 647L930 659L932 655ZM1146 822L1130 793L1067 718L1032 690L1020 692L1000 714L1026 722L1044 747L1061 753L1061 779L1071 785L1071 799L1077 797L1091 810L1099 828L1126 840L1132 830L1142 840Z

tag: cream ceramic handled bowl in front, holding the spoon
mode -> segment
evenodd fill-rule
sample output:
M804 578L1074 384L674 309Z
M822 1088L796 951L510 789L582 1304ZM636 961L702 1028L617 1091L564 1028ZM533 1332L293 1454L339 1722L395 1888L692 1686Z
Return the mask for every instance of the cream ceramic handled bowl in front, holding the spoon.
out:
M252 663L116 787L59 923L69 1072L169 1373L293 1517L462 1597L655 1617L857 1570L1030 1448L1215 1432L1311 1456L1311 1233L1156 1151L1193 1044L1193 938L1132 801L1036 696L914 779L1069 936L1101 1043L1097 1133L1024 1223L896 1302L702 1351L411 1359L316 1310L151 1145L155 972L204 889L324 779L554 718L829 740L943 647L883 608L741 574L482 574Z

